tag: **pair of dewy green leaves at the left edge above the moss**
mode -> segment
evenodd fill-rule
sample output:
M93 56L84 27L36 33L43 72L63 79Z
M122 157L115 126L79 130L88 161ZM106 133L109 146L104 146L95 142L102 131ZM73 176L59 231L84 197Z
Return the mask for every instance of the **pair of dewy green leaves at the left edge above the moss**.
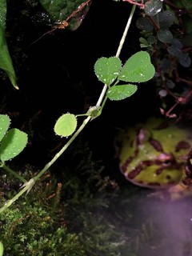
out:
M9 130L10 118L0 114L0 161L6 162L24 150L27 134L17 128Z

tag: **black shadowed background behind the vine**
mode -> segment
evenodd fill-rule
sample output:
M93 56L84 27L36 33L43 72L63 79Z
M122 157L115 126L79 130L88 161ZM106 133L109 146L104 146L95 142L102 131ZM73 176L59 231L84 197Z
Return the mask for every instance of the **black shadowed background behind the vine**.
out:
M42 167L66 142L65 138L54 134L54 123L59 116L66 112L86 113L98 101L102 83L94 74L94 63L98 58L116 54L131 5L93 0L78 30L52 32L35 9L24 15L21 10L27 6L23 5L23 2L19 5L12 1L8 4L9 36L6 39L20 90L14 90L1 71L4 78L0 86L1 113L10 115L12 127L29 134L29 144L14 161ZM141 50L135 26L139 15L136 9L120 55L122 63ZM48 31L50 33L42 37ZM102 115L90 122L79 137L89 143L95 158L102 159L106 166L110 162L110 166L114 161L114 137L118 127L157 113L157 101L153 82L138 85L132 97L121 102L108 100ZM78 118L79 125L81 122L82 118ZM59 162L63 162L66 155L63 154Z

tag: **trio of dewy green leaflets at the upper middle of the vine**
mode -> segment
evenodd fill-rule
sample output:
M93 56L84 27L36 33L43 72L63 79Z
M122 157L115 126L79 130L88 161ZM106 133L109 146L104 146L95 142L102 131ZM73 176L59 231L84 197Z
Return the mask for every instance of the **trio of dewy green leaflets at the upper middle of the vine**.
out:
M150 54L139 51L123 67L118 57L99 58L94 64L94 72L98 80L109 87L107 98L118 101L130 97L138 90L137 85L122 82L146 82L154 77L155 70L150 62Z

